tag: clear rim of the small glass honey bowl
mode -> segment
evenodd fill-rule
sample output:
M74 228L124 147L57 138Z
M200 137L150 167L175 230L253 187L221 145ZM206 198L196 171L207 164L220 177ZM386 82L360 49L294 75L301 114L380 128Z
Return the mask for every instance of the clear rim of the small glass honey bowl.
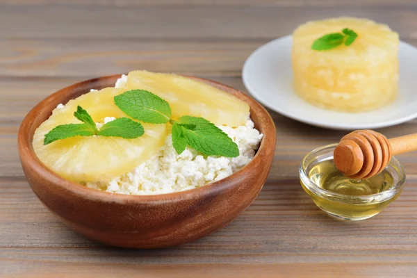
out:
M305 188L307 188L311 193L319 197L323 197L325 199L332 199L335 202L345 204L375 204L389 200L398 193L400 193L400 191L402 190L402 186L404 185L406 174L404 171L404 167L401 165L400 161L398 161L397 158L395 158L394 156L391 158L389 164L395 163L396 165L398 165L398 175L400 176L400 180L397 183L395 183L393 187L389 188L389 190L370 195L345 195L340 193L334 193L332 191L320 188L316 183L313 183L313 181L309 179L303 167L306 164L305 162L307 158L309 158L310 156L315 156L318 152L322 150L334 149L334 147L336 147L337 144L338 143L329 144L313 149L302 159L302 163L300 164L299 168L300 179L301 182L304 183Z

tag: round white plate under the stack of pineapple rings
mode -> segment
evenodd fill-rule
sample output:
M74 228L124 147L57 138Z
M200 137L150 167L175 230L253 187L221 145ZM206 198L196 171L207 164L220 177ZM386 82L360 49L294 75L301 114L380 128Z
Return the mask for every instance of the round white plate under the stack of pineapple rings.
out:
M397 99L366 113L341 113L318 108L298 97L292 85L291 36L256 49L243 66L243 83L264 106L294 120L329 129L377 129L417 117L417 49L400 42L400 81Z

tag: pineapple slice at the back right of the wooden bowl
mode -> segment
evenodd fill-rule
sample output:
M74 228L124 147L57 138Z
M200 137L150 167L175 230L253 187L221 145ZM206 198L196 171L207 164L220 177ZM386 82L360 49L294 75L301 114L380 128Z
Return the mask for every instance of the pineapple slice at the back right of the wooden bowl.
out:
M171 106L174 119L183 115L204 117L216 125L245 125L249 106L227 92L176 74L130 72L126 87L162 97Z

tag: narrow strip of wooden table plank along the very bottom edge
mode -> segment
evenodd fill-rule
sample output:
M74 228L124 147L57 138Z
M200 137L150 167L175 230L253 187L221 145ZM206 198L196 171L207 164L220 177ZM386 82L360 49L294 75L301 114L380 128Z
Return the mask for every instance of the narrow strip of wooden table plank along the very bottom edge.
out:
M247 264L181 264L181 265L137 265L129 263L65 263L50 261L8 261L9 268L15 270L13 278L103 278L118 277L173 277L173 278L212 278L212 277L414 277L414 263L279 263L277 265ZM10 271L8 271L10 272ZM16 275L15 273L19 273ZM9 276L5 276L9 277Z

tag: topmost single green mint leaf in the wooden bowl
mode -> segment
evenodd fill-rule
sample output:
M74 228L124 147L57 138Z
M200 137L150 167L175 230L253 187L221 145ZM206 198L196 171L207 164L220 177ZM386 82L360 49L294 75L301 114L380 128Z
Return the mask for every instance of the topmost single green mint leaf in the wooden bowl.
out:
M115 97L115 104L133 119L151 124L170 121L171 108L161 97L147 90L130 90Z

